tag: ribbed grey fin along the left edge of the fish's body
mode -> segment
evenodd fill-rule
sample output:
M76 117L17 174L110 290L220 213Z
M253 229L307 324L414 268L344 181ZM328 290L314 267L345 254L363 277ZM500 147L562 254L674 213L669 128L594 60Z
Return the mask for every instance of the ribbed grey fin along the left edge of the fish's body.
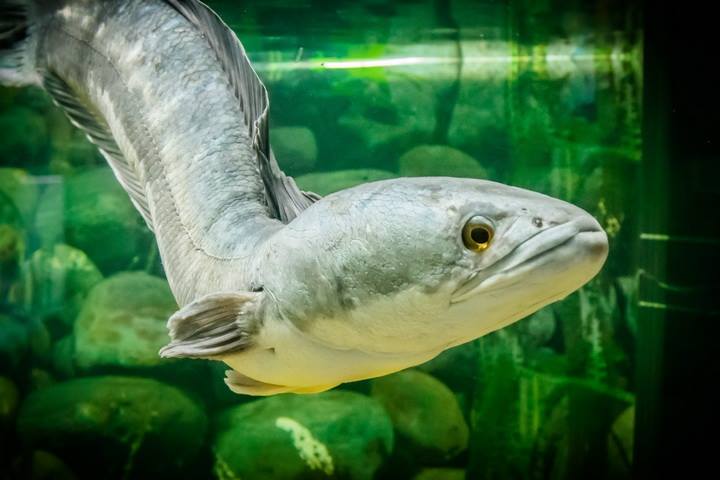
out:
M145 197L145 187L139 178L140 169L131 165L122 154L115 142L110 127L100 114L95 114L86 107L73 89L60 77L52 72L44 72L43 87L61 107L70 119L70 122L85 132L87 138L95 144L105 157L115 176L140 215L145 219L148 228L153 229L152 216Z

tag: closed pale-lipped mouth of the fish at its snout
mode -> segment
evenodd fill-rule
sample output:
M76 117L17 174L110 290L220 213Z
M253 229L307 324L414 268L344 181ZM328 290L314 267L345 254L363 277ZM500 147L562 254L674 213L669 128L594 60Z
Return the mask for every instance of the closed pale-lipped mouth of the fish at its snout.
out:
M590 216L582 216L537 232L490 267L473 273L453 292L450 303L460 303L481 292L488 294L529 281L526 274L551 270L554 262L558 272L573 269L573 264L578 269L582 267L582 272L577 275L587 281L600 270L607 253L607 235L600 224Z

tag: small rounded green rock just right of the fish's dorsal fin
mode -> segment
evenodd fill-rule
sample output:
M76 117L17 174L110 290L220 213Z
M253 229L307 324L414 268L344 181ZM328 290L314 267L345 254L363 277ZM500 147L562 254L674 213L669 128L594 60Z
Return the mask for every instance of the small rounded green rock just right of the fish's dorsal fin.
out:
M315 134L307 127L276 127L270 136L280 168L288 175L309 172L317 162Z

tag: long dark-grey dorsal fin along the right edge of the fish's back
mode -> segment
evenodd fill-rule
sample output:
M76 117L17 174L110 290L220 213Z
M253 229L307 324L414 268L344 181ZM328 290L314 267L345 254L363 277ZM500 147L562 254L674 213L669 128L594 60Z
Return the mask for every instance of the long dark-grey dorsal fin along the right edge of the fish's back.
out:
M257 153L258 168L269 206L275 217L285 223L289 222L320 196L301 191L295 181L280 170L270 150L268 93L250 64L240 40L204 3L198 0L165 1L200 30L215 51L245 116L245 125Z

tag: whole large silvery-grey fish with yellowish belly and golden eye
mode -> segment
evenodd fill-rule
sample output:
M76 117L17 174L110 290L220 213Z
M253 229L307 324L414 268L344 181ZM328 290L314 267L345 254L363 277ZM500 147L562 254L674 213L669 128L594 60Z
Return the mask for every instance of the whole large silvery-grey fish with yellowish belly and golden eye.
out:
M586 211L488 180L302 191L270 148L267 89L197 0L0 13L0 82L43 88L155 235L179 307L160 355L224 362L236 393L422 364L565 298L607 258Z

